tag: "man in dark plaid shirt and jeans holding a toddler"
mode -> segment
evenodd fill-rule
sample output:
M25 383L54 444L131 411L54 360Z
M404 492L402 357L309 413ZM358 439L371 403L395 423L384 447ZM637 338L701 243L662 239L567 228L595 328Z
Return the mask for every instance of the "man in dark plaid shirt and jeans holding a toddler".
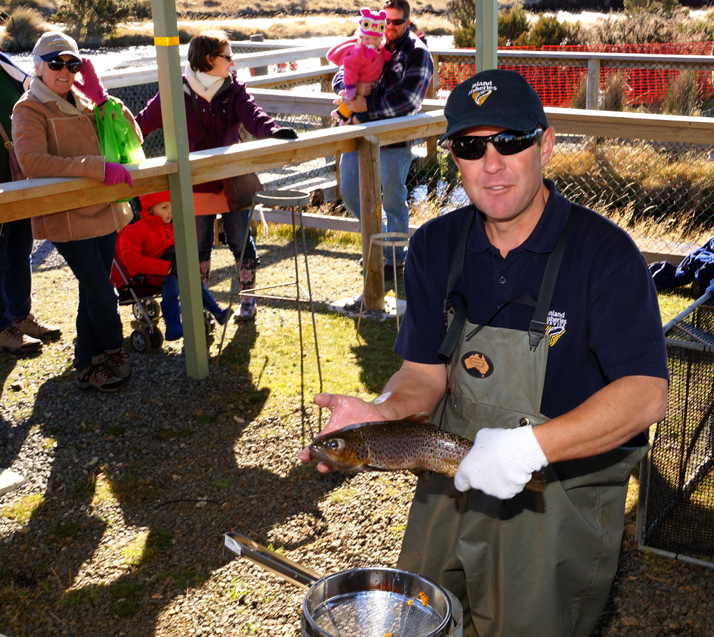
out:
M384 65L382 75L369 90L360 87L358 95L347 102L354 111L353 121L364 123L413 115L421 108L426 89L431 82L434 64L426 45L409 30L411 9L407 0L386 0L382 8L387 14L386 47L392 53ZM342 70L336 74L332 86L336 93L344 88ZM361 94L362 93L362 94ZM363 93L368 93L366 96ZM406 178L411 164L412 141L383 146L380 151L382 208L387 215L387 232L409 231L409 208L406 203ZM340 194L347 210L360 216L359 170L357 153L344 153L340 160ZM384 278L394 276L392 250L385 248ZM406 253L396 248L398 272L403 270Z

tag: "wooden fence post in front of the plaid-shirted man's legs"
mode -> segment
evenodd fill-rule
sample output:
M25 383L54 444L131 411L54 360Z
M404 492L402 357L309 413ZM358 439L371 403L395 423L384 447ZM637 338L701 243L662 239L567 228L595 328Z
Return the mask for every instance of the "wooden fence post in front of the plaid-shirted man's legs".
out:
M357 141L359 158L359 202L362 225L362 263L366 265L364 307L384 309L383 248L376 245L370 254L369 239L382 231L382 180L379 138L371 135Z

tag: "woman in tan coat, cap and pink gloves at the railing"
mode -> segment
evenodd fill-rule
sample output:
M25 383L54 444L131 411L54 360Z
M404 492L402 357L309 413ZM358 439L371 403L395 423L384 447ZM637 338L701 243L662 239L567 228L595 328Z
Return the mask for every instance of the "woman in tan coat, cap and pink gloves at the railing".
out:
M34 49L35 76L16 103L12 133L20 166L29 178L90 177L106 185L126 181L124 166L106 162L99 149L94 105L108 97L91 61L76 42L46 33ZM81 73L81 81L77 78ZM78 89L80 92L78 92ZM141 131L124 108L139 141ZM116 392L131 374L122 351L119 304L109 274L117 230L131 220L124 203L101 203L32 219L35 239L49 239L79 282L74 347L79 387Z

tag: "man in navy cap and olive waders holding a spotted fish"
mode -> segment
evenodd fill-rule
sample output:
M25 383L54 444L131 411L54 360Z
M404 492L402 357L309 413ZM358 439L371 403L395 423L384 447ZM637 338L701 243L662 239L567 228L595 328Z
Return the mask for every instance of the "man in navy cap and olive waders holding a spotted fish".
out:
M413 235L401 370L371 403L318 394L331 418L300 458L431 472L397 566L451 590L466 635L589 637L665 413L657 295L628 235L543 179L555 131L523 77L478 73L444 113L472 205Z

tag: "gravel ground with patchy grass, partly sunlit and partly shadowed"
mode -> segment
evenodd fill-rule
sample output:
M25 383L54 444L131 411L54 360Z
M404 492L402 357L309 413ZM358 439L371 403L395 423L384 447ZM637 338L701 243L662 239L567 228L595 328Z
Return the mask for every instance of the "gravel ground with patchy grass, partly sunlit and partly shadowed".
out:
M261 240L262 281L288 276L289 250ZM230 255L215 254L212 287L221 292ZM221 365L196 382L173 342L132 354L119 394L76 389L76 283L56 253L44 256L35 309L64 335L39 355L0 355L0 467L31 479L0 497L1 633L298 635L303 591L225 551L221 534L233 529L318 573L395 564L416 479L302 467L299 395L278 408L267 372ZM353 245L313 251L320 302L360 291L359 256ZM294 314L271 307L255 326L231 325L229 342ZM127 335L129 308L122 313ZM244 398L255 387L266 387L258 403ZM630 486L620 569L593 636L714 636L711 571L635 548L634 479ZM29 519L12 512L31 496L44 503Z

